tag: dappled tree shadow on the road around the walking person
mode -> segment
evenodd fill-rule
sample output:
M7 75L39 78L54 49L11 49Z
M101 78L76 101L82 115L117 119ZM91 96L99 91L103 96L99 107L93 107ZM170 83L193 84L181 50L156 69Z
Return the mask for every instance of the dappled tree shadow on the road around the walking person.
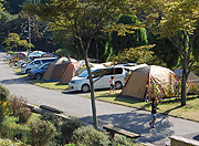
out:
M164 118L164 119L163 119ZM92 124L92 117L81 118L83 122ZM149 122L151 121L150 114L142 114L140 112L129 112L124 114L111 114L97 116L98 125L113 125L133 133L140 134L139 142L155 143L174 135L174 131L170 129L172 125L167 117L158 115L156 126L157 128L150 128Z

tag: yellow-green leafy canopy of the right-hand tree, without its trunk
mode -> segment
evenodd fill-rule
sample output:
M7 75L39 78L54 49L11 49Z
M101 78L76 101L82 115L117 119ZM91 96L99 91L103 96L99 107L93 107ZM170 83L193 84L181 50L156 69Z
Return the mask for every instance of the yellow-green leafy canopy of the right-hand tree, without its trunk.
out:
M179 31L193 33L199 20L197 0L132 0L136 14L161 38L174 36Z

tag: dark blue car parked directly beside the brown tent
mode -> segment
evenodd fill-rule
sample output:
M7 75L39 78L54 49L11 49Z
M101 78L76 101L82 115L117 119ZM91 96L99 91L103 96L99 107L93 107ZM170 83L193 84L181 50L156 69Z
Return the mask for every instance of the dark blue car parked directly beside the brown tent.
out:
M48 62L48 63L44 63L43 65L41 65L40 67L38 67L35 70L30 70L28 72L28 77L29 79L35 79L35 80L42 79L42 76L44 75L44 73L48 70L50 64L51 64L51 62Z

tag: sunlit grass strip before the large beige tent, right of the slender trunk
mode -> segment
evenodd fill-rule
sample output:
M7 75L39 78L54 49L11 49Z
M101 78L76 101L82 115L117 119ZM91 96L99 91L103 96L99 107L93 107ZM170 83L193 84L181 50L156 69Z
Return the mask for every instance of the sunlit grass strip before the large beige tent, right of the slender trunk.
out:
M150 111L150 102L142 102L139 100L130 98L130 97L121 97L118 94L121 91L116 91L116 93L109 93L109 91L100 91L95 92L96 100L116 103L129 107L137 107L143 109ZM158 112L164 113L166 115L174 115L178 117L185 117L189 119L193 119L199 122L199 97L189 95L187 97L187 105L181 106L180 98L166 98L163 104L159 104L160 108Z

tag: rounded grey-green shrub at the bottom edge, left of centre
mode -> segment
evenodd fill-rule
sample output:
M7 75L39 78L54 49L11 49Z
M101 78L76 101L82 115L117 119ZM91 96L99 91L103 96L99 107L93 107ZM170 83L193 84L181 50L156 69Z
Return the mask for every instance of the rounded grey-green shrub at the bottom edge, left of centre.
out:
M54 125L48 121L36 119L29 123L33 146L45 146L56 134Z

